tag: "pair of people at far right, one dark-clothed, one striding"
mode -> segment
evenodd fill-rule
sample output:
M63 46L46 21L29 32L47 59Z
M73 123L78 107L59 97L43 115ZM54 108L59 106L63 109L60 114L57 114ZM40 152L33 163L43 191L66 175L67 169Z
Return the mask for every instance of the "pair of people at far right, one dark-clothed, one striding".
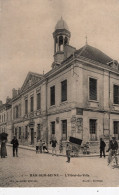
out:
M105 147L106 143L102 138L100 138L100 158L104 156L105 158ZM108 155L108 165L112 162L112 159L115 159L116 165L118 165L118 158L117 158L117 153L118 153L118 143L116 141L116 137L112 137L112 139L109 141L109 147L106 152L109 152Z

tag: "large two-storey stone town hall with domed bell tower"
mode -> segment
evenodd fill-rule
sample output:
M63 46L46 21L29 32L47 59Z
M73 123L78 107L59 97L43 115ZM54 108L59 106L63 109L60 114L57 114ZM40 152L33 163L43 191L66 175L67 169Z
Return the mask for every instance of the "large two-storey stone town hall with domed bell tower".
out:
M61 18L53 33L52 70L29 72L21 89L13 90L9 133L21 144L49 143L54 136L64 142L70 136L84 142L119 139L119 64L87 43L76 50L70 37ZM8 122L0 110L4 129Z

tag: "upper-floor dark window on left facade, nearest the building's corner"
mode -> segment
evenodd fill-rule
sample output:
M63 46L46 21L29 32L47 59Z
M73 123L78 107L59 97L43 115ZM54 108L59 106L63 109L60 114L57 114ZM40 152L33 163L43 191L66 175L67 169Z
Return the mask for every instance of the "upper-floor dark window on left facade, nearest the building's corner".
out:
M67 100L67 80L61 82L61 101Z

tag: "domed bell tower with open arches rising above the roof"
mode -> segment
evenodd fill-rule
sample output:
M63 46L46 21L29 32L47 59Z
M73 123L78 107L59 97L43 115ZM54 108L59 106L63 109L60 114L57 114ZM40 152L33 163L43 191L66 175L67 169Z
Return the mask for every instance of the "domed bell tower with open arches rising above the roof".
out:
M61 19L57 22L55 26L55 31L53 32L54 38L54 63L52 67L58 66L64 60L64 48L69 45L69 40L71 33L66 22Z

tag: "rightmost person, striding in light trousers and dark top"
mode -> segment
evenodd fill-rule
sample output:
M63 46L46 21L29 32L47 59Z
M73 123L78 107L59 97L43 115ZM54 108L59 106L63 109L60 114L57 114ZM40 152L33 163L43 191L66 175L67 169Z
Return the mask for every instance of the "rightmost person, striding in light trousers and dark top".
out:
M118 150L118 143L116 141L116 137L112 137L112 140L110 140L109 142L109 148L107 150L107 152L109 152L108 165L111 163L112 157L114 157L116 165L118 165L117 150Z

